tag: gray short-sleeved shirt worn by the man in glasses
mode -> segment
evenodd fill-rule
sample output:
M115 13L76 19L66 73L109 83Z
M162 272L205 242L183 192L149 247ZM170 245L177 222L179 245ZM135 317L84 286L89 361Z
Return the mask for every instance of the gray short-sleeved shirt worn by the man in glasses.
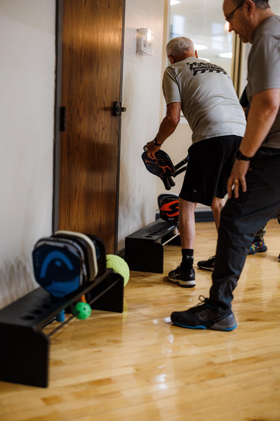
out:
M258 92L280 88L280 16L271 16L256 29L248 58L247 80L249 103ZM280 110L263 145L280 148Z

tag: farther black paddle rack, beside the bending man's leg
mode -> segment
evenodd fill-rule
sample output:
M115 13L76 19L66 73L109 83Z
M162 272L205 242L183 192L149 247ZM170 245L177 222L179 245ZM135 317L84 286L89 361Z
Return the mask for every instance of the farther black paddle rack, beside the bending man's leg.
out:
M175 231L178 222L157 219L126 237L125 260L129 269L139 272L163 273L163 246L180 245L181 238Z

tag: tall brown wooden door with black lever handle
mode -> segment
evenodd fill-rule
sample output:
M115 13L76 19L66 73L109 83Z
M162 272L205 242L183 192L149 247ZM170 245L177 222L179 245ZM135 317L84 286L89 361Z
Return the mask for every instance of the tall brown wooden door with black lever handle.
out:
M94 234L116 252L124 0L64 0L59 229Z

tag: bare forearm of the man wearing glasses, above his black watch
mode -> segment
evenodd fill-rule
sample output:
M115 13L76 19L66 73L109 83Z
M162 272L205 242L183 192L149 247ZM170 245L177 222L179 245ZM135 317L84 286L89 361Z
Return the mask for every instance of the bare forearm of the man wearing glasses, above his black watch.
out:
M253 97L246 133L239 147L243 155L253 157L256 154L275 121L278 108Z

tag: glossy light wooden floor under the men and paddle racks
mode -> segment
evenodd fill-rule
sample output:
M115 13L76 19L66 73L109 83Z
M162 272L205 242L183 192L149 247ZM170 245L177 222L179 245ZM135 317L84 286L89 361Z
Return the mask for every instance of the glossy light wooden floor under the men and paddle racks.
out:
M215 254L214 223L196 224L195 261ZM166 246L165 272L131 272L123 314L93 312L52 338L47 389L0 382L1 421L280 420L280 226L267 253L248 256L235 291L232 332L173 326L170 313L208 295L168 282L180 263ZM2 339L3 340L3 339Z

